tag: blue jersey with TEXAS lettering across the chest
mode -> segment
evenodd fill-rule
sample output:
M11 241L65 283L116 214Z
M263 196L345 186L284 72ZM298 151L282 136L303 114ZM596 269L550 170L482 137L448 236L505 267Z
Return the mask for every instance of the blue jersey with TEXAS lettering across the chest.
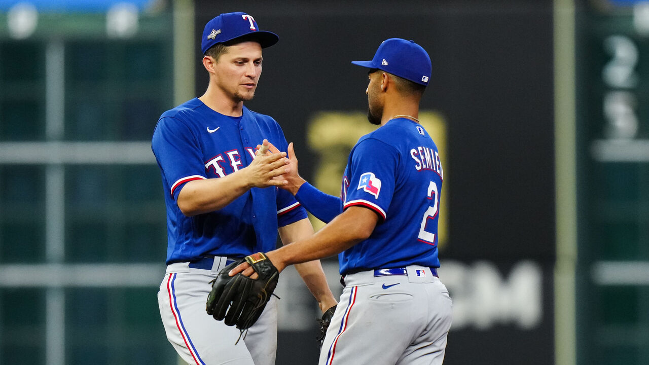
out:
M288 148L273 118L246 107L241 117L225 116L194 98L160 116L151 148L165 192L167 264L271 251L278 227L307 217L293 195L274 186L251 188L221 210L193 217L178 208L178 194L186 183L245 168L264 138L281 151Z

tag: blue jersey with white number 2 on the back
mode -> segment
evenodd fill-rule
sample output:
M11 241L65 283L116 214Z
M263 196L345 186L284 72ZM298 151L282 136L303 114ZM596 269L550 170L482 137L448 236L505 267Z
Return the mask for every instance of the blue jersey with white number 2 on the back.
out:
M340 273L411 264L439 267L437 221L444 173L428 132L406 118L358 140L343 177L343 210L370 208L382 218L373 233L340 253Z

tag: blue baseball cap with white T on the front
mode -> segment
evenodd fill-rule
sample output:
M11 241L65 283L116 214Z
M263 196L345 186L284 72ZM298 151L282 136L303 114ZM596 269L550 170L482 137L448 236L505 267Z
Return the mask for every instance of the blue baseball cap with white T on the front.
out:
M225 13L208 21L201 38L203 55L212 45L228 42L243 36L251 36L262 45L262 48L276 44L280 38L269 31L260 31L257 21L242 12Z

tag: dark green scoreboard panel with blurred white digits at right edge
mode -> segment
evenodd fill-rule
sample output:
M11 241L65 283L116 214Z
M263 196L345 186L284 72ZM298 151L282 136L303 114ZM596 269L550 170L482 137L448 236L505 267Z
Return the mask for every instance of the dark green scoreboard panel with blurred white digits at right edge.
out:
M576 14L578 364L647 364L649 2Z

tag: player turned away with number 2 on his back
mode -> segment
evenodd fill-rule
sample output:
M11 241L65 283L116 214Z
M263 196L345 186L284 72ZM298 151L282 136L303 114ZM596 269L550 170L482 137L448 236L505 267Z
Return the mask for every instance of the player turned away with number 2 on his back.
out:
M413 41L391 38L369 68L368 118L380 125L349 155L340 198L297 174L289 145L282 186L328 224L309 238L266 253L278 270L339 255L345 286L328 327L320 365L442 364L451 299L437 277L437 220L444 177L439 153L419 124L431 62ZM279 153L271 146L267 153ZM244 263L230 275L254 271Z

